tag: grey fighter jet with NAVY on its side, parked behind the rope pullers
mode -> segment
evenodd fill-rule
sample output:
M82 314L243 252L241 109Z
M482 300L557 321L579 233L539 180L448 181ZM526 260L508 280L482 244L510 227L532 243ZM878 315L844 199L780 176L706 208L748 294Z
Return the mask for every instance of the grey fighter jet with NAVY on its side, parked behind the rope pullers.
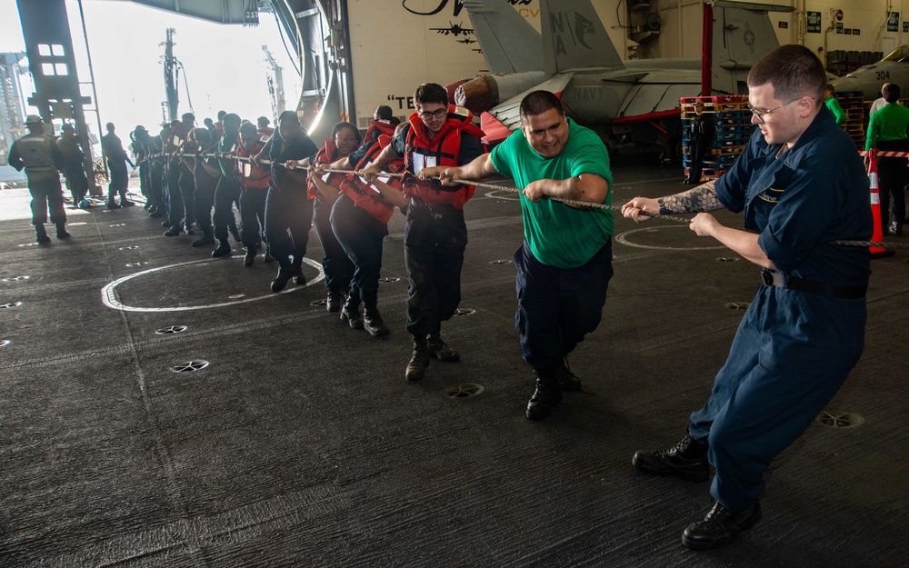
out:
M493 99L490 114L515 130L524 95L546 89L561 93L568 115L613 144L659 144L667 155L678 154L679 99L701 95L700 59L623 61L589 0L540 0L542 37L505 0L463 2L490 72L510 75L483 75L462 85L458 104L477 112L472 97ZM792 10L714 2L713 95L747 93L751 65L779 45L768 12Z

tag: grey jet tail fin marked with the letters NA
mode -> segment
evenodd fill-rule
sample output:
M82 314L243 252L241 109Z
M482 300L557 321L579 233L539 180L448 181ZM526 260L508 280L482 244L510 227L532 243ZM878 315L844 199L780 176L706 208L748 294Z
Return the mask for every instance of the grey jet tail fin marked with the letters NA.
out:
M547 75L584 67L624 67L590 0L540 0L540 15Z

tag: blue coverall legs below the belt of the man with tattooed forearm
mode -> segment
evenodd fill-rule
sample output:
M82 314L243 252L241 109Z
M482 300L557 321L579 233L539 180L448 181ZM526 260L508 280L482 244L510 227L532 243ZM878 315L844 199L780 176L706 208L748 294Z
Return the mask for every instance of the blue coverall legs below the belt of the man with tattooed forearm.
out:
M709 444L714 499L733 512L764 492L764 472L824 410L864 347L865 304L764 285L735 332L688 431Z

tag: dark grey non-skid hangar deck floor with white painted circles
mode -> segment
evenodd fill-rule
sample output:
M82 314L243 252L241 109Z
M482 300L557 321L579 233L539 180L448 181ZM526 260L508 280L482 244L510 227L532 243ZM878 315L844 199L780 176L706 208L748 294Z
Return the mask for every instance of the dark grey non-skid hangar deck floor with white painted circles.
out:
M683 187L616 162L615 204ZM7 217L25 196L0 192ZM382 340L327 314L322 282L271 294L275 264L211 259L141 207L69 210L73 237L40 247L25 215L0 222L0 566L909 565L909 252L874 261L864 356L830 406L864 424L812 426L768 473L764 520L695 553L680 537L707 484L631 456L684 433L754 266L684 225L617 219L603 323L571 357L594 394L534 423L502 262L519 205L478 190L465 211L464 315L445 326L462 360L417 384L402 215ZM190 362L208 364L175 373ZM482 392L449 395L464 384Z

